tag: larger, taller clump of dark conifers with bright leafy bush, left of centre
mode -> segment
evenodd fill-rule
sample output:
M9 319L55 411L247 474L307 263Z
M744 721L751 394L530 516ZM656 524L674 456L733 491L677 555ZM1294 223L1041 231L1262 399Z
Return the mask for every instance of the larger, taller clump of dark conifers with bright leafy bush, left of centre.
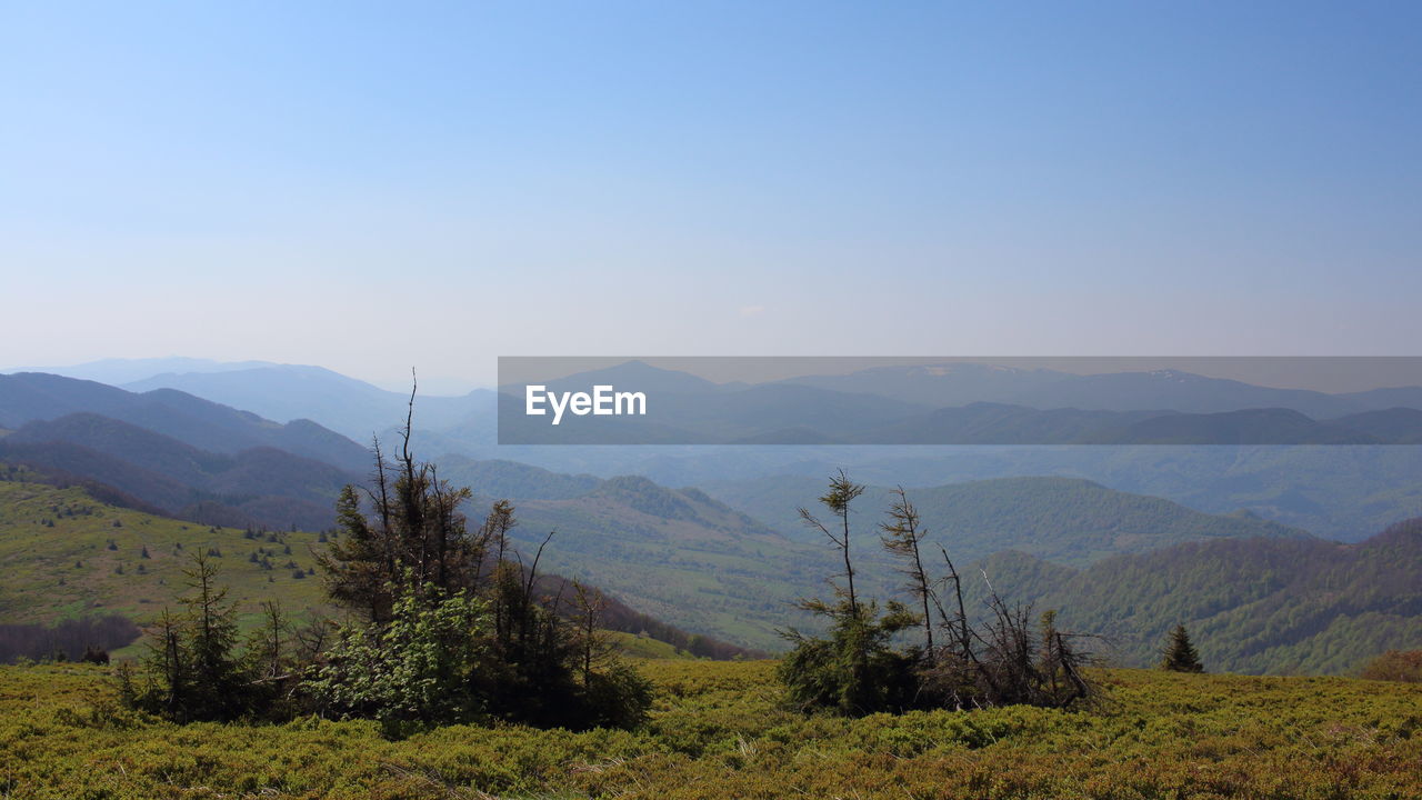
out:
M319 666L310 686L319 707L392 729L485 716L636 725L650 690L604 658L602 604L577 586L590 605L574 628L560 598L539 596L538 567L553 535L525 564L509 538L518 521L508 501L471 531L459 511L471 491L415 461L408 424L402 437L394 464L374 448L368 512L354 488L341 493L340 535L320 559L331 599L365 621Z

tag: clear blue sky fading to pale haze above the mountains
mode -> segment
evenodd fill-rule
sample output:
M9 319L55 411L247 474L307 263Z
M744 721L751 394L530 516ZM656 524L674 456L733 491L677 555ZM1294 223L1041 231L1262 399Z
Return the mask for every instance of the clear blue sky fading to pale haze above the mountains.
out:
M0 367L1416 354L1416 3L4 3Z

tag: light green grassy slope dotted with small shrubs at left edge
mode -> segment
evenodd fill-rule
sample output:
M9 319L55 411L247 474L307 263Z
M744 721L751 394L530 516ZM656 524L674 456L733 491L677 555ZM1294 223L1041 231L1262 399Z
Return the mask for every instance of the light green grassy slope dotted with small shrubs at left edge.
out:
M54 527L43 520L53 520ZM0 568L6 575L0 622L53 622L81 614L122 614L144 622L165 604L173 605L183 592L182 571L209 547L223 555L213 559L219 581L242 614L253 615L262 601L274 598L293 614L321 606L320 578L297 579L286 567L296 561L311 569L317 535L280 537L284 544L252 541L232 528L104 505L80 488L0 483ZM108 549L111 541L117 549ZM287 545L292 555L283 552ZM145 547L149 558L142 558ZM247 561L257 548L273 552L273 569Z

